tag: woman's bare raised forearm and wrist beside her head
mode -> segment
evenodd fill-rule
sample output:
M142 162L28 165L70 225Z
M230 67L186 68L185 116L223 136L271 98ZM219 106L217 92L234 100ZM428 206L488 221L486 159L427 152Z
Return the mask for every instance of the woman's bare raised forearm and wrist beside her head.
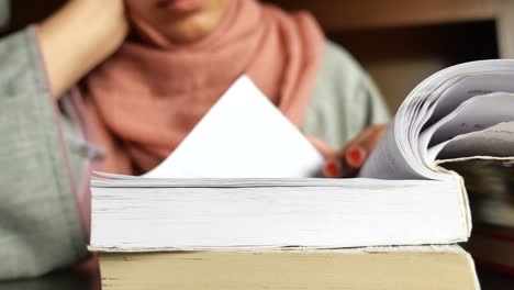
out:
M123 0L70 0L40 25L40 43L57 100L114 53L128 31Z

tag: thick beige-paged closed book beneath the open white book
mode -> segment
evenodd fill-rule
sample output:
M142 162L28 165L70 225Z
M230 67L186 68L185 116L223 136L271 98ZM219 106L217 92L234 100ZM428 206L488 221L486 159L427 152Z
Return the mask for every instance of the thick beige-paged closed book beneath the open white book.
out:
M99 253L104 290L480 289L457 246Z

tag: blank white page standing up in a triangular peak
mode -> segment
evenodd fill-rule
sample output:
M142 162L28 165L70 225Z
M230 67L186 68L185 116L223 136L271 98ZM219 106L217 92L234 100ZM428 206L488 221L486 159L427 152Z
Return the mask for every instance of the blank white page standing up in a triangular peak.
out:
M304 178L323 157L247 77L146 178Z

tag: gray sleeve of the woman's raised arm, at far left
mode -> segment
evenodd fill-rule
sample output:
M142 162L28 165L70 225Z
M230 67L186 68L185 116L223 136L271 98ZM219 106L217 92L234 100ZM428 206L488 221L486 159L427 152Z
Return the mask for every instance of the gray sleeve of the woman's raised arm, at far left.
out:
M36 31L0 41L0 280L87 255Z

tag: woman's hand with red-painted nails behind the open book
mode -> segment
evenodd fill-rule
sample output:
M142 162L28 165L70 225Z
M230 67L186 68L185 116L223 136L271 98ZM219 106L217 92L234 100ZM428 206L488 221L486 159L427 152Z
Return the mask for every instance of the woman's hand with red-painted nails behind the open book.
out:
M346 144L340 150L333 150L324 142L309 137L320 153L325 157L323 175L328 178L355 177L359 172L371 152L377 147L387 125L372 125L367 127L354 141Z

